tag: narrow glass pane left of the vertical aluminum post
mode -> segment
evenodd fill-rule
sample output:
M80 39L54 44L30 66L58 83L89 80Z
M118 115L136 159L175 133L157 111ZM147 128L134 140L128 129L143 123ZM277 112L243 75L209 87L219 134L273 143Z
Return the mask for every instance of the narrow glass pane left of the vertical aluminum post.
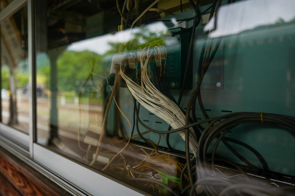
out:
M2 123L28 134L27 26L27 6L1 24L1 105Z

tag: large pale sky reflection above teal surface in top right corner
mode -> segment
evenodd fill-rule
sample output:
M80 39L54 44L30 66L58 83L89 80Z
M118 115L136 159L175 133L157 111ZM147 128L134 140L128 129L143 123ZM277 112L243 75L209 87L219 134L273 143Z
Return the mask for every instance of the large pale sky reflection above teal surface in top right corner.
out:
M248 0L221 6L217 16L217 28L211 37L226 36L274 24L278 19L288 22L295 18L295 0ZM214 18L204 27L214 27Z

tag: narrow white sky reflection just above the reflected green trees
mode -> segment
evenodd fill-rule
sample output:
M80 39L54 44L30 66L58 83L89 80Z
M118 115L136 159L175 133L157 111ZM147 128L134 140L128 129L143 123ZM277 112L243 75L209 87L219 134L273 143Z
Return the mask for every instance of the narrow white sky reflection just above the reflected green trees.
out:
M145 25L145 28L149 34L154 32L163 32L167 31L167 26L163 22L155 22L152 24ZM141 32L139 28L126 29L121 32L117 32L114 34L106 34L94 38L89 38L81 41L77 41L68 46L67 50L72 51L92 51L97 54L104 54L106 51L110 50L112 47L109 45L109 42L125 43L126 41L130 41L131 35L134 33Z

